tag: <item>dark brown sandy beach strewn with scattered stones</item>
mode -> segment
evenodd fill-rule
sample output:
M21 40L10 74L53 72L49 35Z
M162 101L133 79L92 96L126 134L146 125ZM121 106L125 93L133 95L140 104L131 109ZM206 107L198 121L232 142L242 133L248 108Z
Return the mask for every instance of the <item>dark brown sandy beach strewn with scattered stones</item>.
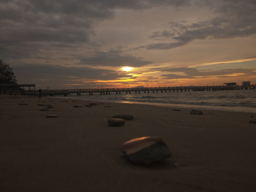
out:
M256 191L256 114L0 98L1 191ZM116 114L134 119L109 127ZM161 137L173 156L150 166L124 159L122 144L147 136Z

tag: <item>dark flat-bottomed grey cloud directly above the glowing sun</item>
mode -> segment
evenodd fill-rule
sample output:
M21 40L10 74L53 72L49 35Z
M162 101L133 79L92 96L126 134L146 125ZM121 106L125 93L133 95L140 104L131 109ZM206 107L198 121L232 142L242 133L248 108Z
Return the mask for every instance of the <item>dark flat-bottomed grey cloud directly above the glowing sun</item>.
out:
M142 58L123 54L121 49L111 49L107 52L97 51L91 57L79 56L76 59L80 60L81 64L102 66L142 67L153 63L148 60L142 60Z

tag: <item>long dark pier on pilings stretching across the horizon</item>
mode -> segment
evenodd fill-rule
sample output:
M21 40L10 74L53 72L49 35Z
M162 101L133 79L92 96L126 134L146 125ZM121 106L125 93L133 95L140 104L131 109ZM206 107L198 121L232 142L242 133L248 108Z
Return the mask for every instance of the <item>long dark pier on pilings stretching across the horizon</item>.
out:
M196 91L215 91L215 90L247 90L255 89L255 85L249 87L243 87L242 85L216 85L216 86L180 86L180 87L134 87L134 88L98 88L98 89L70 89L70 90L42 90L42 95L56 96L63 95L68 96L71 93L75 93L78 96L82 93L87 95L94 95L98 93L100 95L120 95L120 94L139 94L139 93L157 93L157 92L196 92ZM29 95L36 94L38 92L29 92Z

